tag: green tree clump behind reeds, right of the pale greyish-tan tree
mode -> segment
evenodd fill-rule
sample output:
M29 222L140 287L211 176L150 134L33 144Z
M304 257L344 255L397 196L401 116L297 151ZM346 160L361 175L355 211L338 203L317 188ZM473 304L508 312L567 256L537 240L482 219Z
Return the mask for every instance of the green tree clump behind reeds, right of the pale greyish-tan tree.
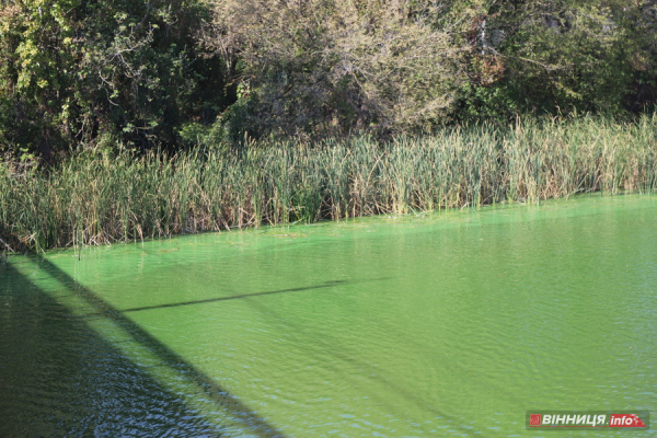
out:
M462 13L456 3L452 13ZM633 106L629 101L637 94L637 83L643 84L644 97L655 83L654 3L475 2L464 20L473 50L461 111L474 117L505 112L623 113ZM645 103L644 99L644 107Z

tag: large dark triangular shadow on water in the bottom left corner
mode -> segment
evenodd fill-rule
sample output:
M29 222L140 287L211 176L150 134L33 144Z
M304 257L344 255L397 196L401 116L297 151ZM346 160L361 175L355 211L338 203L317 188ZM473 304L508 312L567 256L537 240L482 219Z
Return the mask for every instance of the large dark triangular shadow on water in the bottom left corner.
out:
M85 321L0 261L0 437L218 437Z

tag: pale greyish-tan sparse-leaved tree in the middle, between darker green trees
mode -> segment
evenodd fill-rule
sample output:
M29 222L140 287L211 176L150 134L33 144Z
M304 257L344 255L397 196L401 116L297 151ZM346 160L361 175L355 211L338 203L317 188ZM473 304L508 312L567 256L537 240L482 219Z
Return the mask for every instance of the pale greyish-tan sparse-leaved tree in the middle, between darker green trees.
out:
M239 100L234 131L417 130L451 116L465 48L431 1L216 0L205 47Z

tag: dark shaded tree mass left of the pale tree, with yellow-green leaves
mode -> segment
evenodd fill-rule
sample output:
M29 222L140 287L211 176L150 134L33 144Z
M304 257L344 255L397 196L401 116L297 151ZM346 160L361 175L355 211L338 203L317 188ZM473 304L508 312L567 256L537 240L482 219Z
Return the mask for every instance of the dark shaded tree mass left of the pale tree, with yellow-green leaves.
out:
M2 0L0 147L49 160L107 139L177 146L223 100L218 62L195 49L206 11L200 0Z

